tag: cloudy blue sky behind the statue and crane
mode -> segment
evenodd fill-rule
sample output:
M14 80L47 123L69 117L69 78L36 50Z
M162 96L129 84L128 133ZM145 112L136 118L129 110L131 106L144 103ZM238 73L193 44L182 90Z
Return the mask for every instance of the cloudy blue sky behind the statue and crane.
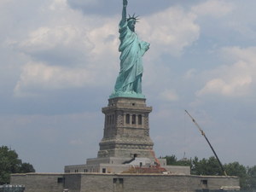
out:
M256 2L129 0L149 42L143 94L157 156L256 165ZM38 172L96 157L119 73L122 1L1 0L0 145Z

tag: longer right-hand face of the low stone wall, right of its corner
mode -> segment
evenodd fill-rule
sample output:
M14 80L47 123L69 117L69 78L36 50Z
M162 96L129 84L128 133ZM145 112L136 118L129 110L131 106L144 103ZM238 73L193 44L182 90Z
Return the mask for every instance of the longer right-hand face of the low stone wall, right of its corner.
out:
M220 189L222 186L238 186L238 177L201 177L157 174L117 174L82 175L81 192L176 192L204 189L202 181L207 181L207 189ZM96 184L92 184L96 183Z

